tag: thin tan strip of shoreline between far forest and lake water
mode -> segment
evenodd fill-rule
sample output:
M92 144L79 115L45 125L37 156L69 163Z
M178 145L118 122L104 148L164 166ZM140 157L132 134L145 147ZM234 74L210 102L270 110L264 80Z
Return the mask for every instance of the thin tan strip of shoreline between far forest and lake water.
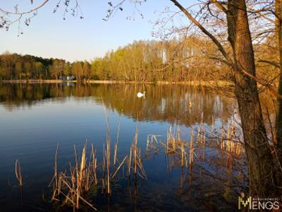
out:
M78 83L78 81L63 81L63 80L0 80L0 83ZM148 81L96 81L96 80L87 80L80 83L89 83L89 84L157 84L157 85L188 85L188 86L207 86L207 87L231 87L233 83L228 81L180 81L180 82L171 82L171 81L157 81L157 82L148 82Z

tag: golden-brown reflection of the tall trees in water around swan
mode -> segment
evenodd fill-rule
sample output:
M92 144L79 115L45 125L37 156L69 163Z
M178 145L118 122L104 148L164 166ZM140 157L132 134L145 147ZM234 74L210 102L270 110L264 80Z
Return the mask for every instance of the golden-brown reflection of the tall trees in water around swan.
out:
M146 91L146 98L137 98L138 91ZM227 120L233 101L213 95L208 89L175 85L126 85L102 89L106 107L118 110L139 120L157 120L192 124L212 123L212 114ZM100 99L98 100L100 101ZM190 107L191 102L191 107Z

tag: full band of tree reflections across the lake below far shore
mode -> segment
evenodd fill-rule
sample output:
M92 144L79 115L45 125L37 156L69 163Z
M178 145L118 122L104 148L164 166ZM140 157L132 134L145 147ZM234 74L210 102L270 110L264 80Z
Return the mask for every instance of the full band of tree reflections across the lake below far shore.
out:
M137 92L146 91L146 98ZM212 123L212 115L226 122L235 103L231 98L211 93L208 88L149 84L5 84L0 86L0 102L8 110L31 107L42 100L65 101L61 97L90 97L106 107L139 120L178 124ZM52 99L56 98L56 100ZM59 98L59 99L58 99ZM61 99L60 99L61 98Z

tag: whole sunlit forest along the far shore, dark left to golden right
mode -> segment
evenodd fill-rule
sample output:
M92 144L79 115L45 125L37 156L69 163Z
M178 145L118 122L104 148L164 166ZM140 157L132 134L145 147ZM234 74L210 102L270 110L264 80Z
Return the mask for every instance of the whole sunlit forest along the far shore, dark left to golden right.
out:
M271 39L270 39L271 41ZM269 48L257 47L267 55ZM230 79L231 71L220 62L220 53L209 40L182 37L170 41L136 41L92 61L44 59L31 55L0 55L0 80L62 79L77 81L216 81ZM262 55L262 57L264 57ZM271 52L268 54L271 55ZM272 54L273 55L273 54ZM266 65L267 66L267 65ZM275 76L266 68L263 76ZM267 71L266 71L267 70ZM258 68L259 74L259 68Z

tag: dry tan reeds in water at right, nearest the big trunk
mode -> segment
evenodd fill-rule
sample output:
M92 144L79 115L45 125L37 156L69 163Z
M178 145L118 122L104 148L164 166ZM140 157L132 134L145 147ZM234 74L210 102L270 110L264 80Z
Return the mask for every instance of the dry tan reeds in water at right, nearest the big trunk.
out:
M209 152L218 150L221 160L226 161L226 168L232 169L233 159L245 155L243 144L236 135L236 124L235 122L227 124L225 128L220 129L220 134L217 134L214 117L212 119L212 131L209 132L207 126L200 123L197 129L194 127L190 129L188 141L180 137L179 127L173 129L170 126L166 142L158 141L157 136L150 134L147 137L147 151L159 151L161 144L165 148L166 155L173 160L171 164L191 167L195 162L208 162L212 154L207 154L207 150Z

